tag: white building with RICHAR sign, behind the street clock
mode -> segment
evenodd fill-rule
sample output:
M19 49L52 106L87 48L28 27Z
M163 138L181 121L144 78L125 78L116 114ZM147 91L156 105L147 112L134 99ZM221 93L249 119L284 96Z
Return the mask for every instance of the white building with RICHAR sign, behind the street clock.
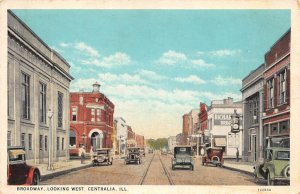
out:
M208 130L206 131L206 142L212 146L222 146L224 156L235 157L237 148L241 156L242 153L242 131L231 133L231 115L236 110L237 114L242 114L242 102L233 102L233 98L224 100L214 100L208 107ZM242 120L240 118L240 129ZM212 141L211 141L212 139Z

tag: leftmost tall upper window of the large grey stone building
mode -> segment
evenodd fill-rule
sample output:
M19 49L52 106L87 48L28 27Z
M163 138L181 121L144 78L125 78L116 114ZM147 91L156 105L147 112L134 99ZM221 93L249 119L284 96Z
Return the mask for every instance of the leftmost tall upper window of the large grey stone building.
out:
M22 73L22 86L21 86L22 118L27 120L30 119L29 80L30 80L30 76L25 73Z

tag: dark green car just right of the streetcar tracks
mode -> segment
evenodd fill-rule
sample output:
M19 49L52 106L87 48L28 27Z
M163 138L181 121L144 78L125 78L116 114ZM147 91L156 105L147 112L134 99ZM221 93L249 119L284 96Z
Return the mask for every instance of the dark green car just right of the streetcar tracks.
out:
M172 158L172 170L175 170L177 167L185 168L186 166L188 166L190 170L194 170L191 146L175 146L174 156Z

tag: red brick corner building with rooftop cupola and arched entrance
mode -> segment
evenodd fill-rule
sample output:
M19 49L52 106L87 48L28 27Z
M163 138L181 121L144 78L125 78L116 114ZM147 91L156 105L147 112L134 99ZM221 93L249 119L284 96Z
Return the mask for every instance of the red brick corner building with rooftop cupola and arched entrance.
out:
M70 93L70 154L91 146L112 148L114 104L102 93L100 84L92 92Z

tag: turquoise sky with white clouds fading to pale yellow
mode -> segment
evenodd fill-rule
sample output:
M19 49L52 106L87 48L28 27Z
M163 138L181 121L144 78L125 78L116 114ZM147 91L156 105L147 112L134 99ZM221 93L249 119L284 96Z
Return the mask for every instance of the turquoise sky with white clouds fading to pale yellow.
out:
M290 28L289 10L13 10L146 138L177 135L200 102L241 100L242 79Z

